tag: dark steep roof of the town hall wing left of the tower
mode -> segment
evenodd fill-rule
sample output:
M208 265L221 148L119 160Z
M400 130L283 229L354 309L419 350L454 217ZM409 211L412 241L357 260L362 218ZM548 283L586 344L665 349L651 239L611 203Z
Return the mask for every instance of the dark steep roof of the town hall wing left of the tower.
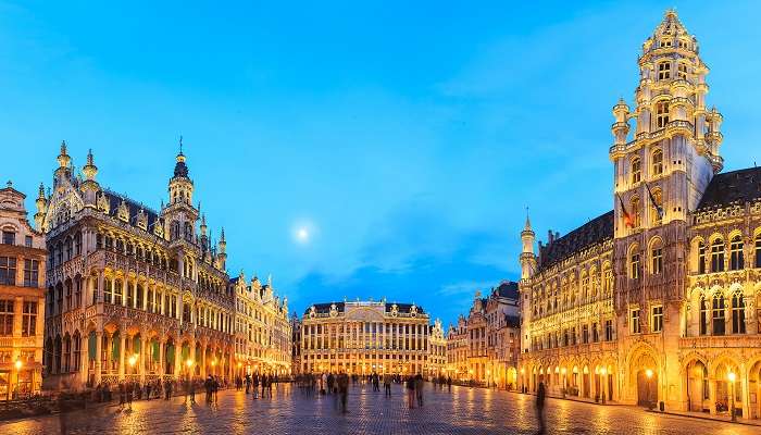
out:
M539 270L547 269L575 252L611 238L613 238L613 210L542 246L539 251Z

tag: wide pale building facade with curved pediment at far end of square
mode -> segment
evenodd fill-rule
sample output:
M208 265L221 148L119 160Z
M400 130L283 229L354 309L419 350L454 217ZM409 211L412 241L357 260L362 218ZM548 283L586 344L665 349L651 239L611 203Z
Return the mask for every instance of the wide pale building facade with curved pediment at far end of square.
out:
M414 303L317 303L301 320L302 373L424 374L429 316Z

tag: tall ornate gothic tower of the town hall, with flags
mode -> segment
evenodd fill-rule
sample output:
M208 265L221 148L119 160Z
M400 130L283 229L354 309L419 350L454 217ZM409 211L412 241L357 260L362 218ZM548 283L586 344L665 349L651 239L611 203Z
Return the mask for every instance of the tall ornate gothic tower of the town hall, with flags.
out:
M675 11L666 11L644 42L638 63L635 110L620 100L611 127L616 331L620 361L631 361L623 369L633 376L624 382L624 399L637 397L638 372L650 369L669 403L677 400L678 385L665 380L679 373L665 349L678 347L683 328L688 215L722 169L722 117L706 108L708 67Z

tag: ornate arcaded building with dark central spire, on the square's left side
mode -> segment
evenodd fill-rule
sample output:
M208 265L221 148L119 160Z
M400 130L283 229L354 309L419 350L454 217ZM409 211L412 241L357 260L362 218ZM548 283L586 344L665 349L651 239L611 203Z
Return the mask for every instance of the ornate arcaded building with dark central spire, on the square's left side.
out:
M192 203L182 142L159 211L101 187L91 152L80 174L65 142L58 162L35 214L50 251L48 387L232 376L239 296L225 271L224 229L212 243Z

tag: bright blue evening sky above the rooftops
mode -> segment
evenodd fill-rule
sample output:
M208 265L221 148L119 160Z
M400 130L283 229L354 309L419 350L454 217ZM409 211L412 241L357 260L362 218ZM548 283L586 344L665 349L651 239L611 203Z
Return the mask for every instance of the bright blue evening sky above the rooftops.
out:
M611 210L611 109L668 8L725 171L761 162L753 1L116 3L0 0L0 178L34 213L65 139L158 209L182 135L229 274L300 314L385 297L456 322L519 278L526 207L539 239Z

